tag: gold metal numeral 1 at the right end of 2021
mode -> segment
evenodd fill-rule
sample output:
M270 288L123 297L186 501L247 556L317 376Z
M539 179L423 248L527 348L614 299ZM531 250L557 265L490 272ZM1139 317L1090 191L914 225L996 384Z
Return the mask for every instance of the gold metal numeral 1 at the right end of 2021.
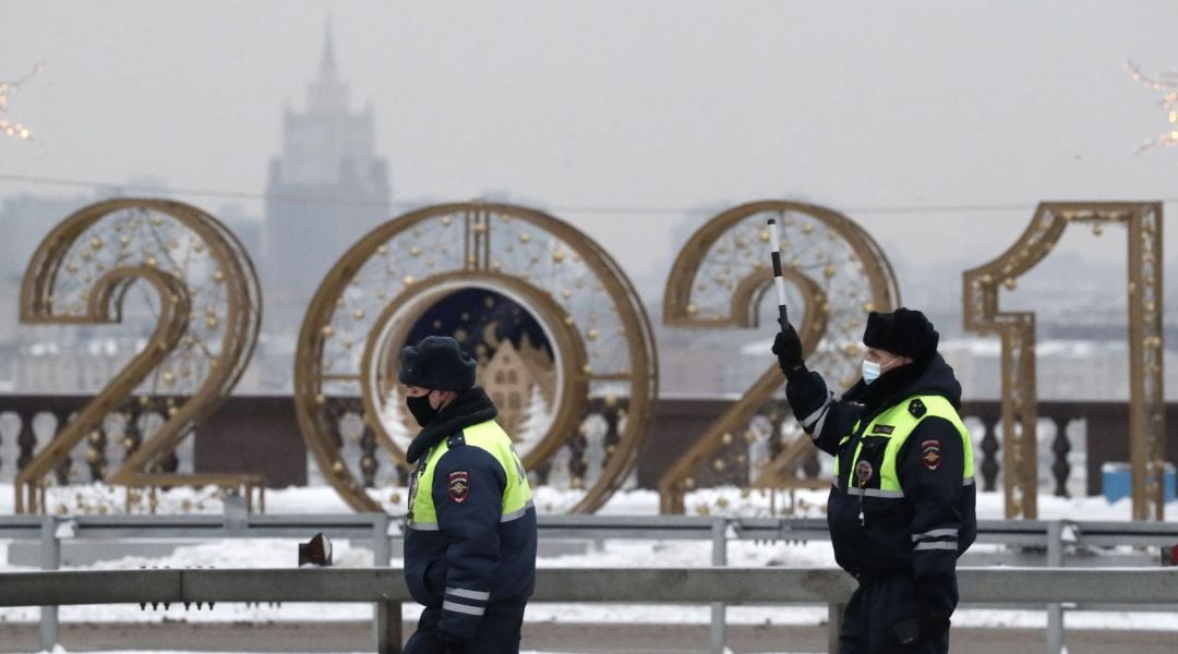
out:
M1054 248L1073 222L1099 231L1129 227L1130 458L1133 519L1165 515L1165 393L1163 376L1162 205L1159 202L1040 202L1026 231L993 261L962 275L965 327L1002 342L1002 485L1006 518L1038 516L1034 313L1002 312L999 286L1014 288ZM1099 232L1098 232L1099 233Z

